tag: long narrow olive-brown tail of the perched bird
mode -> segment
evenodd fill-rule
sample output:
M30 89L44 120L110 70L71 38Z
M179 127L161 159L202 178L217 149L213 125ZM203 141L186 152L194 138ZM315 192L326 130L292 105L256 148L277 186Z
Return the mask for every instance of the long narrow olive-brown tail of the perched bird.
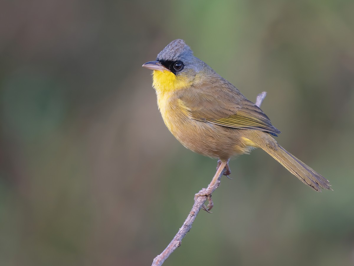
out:
M256 147L262 148L275 160L280 162L290 173L297 176L302 182L309 185L316 191L323 189L331 189L330 182L315 172L312 168L304 164L292 154L283 149L275 139L273 139L268 133L258 131L257 137L253 137L251 142L256 144Z

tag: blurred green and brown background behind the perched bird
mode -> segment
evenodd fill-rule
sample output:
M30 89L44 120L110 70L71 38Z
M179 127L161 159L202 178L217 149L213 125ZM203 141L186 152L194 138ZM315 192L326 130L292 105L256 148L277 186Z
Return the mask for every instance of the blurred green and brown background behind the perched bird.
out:
M2 1L0 265L150 265L215 173L165 127L155 60L182 38L328 178L230 163L165 265L354 265L354 1Z

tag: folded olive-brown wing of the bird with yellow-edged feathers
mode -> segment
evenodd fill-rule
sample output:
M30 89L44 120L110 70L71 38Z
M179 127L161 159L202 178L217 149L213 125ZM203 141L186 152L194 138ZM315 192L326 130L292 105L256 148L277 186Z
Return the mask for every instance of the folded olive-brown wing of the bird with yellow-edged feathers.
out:
M198 87L186 90L180 97L193 119L225 127L265 131L275 136L280 133L258 106L220 76Z

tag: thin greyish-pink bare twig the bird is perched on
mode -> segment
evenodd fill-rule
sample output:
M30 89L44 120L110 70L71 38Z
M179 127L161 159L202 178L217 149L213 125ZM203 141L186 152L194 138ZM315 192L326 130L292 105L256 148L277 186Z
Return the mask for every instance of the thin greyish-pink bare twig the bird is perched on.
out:
M266 92L262 92L257 95L256 105L258 107L261 106L266 95L267 95ZM222 170L222 172L219 174L219 176L217 178L216 184L212 184L213 182L211 182L209 184L208 189L211 190L211 193L213 193L214 190L218 188L218 186L220 184L220 179L223 176L225 170L226 170L226 168L224 167L224 169ZM171 253L173 251L175 251L175 249L177 249L181 245L182 239L189 232L190 228L192 228L192 224L193 224L196 216L198 215L200 209L203 207L207 198L208 197L206 195L197 196L194 198L194 204L193 204L192 210L189 212L189 214L187 216L187 219L185 219L182 227L179 228L177 234L172 239L170 244L165 248L165 250L162 251L162 253L160 255L155 257L152 266L162 265L164 263L164 261L171 255Z

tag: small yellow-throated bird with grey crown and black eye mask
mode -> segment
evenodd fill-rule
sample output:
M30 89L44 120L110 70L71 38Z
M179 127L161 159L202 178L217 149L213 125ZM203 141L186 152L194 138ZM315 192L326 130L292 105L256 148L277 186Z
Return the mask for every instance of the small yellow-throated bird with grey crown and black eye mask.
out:
M276 142L281 132L268 116L195 57L184 40L171 41L142 66L153 70L157 104L169 131L186 148L218 159L224 175L231 173L230 159L261 148L314 190L332 190L326 178Z

